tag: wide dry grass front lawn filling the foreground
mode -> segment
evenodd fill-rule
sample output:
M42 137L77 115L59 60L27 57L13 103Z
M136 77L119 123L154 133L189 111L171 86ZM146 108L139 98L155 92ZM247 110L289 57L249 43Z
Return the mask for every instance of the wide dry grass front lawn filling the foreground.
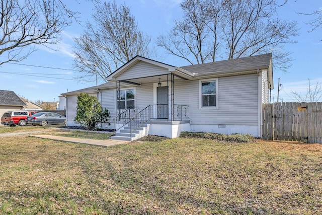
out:
M322 146L198 138L110 148L0 137L0 213L318 214Z

